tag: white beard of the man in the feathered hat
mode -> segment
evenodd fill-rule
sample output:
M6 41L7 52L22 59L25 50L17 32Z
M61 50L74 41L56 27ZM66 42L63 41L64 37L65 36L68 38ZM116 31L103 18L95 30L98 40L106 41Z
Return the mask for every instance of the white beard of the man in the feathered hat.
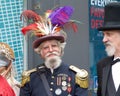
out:
M56 69L61 65L61 58L59 56L47 57L45 59L45 66L49 69Z

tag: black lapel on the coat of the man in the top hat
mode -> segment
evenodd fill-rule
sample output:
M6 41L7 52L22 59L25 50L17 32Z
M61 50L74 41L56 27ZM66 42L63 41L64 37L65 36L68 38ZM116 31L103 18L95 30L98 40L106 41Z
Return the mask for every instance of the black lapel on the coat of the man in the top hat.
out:
M105 63L107 63L106 66L103 67L103 73L102 73L102 96L105 96L106 92L106 86L107 86L107 81L108 81L108 76L111 68L111 63L112 63L113 58L109 58Z

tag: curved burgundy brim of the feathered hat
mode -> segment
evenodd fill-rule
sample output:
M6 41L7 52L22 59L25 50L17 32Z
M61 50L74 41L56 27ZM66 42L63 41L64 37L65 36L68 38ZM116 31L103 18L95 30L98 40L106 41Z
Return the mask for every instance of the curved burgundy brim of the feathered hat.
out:
M65 41L63 36L44 36L44 37L40 37L40 38L36 39L33 42L33 48L37 48L44 41L53 40L53 39L58 40L61 43L63 43Z

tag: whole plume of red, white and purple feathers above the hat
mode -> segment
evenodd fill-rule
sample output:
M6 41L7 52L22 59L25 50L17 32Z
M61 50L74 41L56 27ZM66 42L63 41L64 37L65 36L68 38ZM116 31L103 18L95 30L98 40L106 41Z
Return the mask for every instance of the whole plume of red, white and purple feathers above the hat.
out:
M54 10L46 11L43 17L32 10L25 10L22 12L20 19L26 20L29 25L23 27L21 31L24 35L32 31L34 35L39 37L59 32L63 28L72 27L76 32L77 25L74 20L70 20L73 11L74 9L71 6L58 7Z

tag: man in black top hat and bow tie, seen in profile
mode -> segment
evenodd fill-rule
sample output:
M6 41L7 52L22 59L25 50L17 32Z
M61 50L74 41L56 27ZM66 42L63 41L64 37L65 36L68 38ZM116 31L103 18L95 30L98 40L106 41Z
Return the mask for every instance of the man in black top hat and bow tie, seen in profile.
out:
M120 96L120 2L105 6L103 43L108 57L97 64L98 96Z

